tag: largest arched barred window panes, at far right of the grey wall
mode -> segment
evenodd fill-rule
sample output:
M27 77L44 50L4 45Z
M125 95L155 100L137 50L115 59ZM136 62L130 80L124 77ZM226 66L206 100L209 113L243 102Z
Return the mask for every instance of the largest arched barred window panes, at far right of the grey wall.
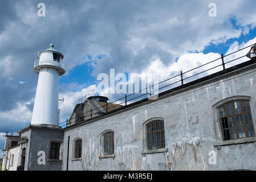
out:
M255 137L249 101L232 101L219 107L223 140Z

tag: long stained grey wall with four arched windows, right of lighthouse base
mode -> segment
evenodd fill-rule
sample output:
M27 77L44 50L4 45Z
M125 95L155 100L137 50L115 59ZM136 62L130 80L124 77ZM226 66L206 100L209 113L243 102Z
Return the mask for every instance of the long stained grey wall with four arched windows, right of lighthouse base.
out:
M246 96L256 126L256 66L222 75L157 100L129 107L64 131L63 164L69 170L256 170L255 137L222 141L214 105L229 97ZM164 120L165 146L149 154L144 123ZM115 132L115 156L101 158L100 134ZM74 159L74 140L82 138L82 159ZM209 162L213 153L217 163ZM101 156L104 157L104 156Z

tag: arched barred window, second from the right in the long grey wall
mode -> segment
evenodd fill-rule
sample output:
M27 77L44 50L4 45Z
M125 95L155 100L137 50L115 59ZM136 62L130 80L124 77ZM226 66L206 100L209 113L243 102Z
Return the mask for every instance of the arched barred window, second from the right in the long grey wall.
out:
M165 148L164 121L152 121L146 129L148 150Z

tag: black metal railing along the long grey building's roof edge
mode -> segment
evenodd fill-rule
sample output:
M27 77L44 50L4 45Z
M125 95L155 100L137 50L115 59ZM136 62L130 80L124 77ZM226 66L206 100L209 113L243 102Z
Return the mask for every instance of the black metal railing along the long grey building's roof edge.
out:
M227 55L225 55L225 56L223 56L223 55L221 54L221 57L219 57L218 59L215 59L215 60L213 60L213 61L209 61L208 63L202 64L202 65L200 65L200 66L198 66L198 67L196 67L196 68L190 69L190 70L185 71L185 72L182 72L182 71L181 71L180 74L178 74L178 75L176 75L176 76L170 77L170 78L168 78L168 79L166 79L166 80L160 81L160 82L158 82L157 84L150 85L150 86L151 86L151 88L152 88L153 86L156 86L156 85L160 85L160 84L165 83L166 85L161 86L160 88L157 88L157 89L156 89L156 90L161 90L161 89L164 89L164 88L166 88L166 87L168 87L168 86L177 84L178 82L181 82L181 85L183 85L183 84L184 84L184 81L189 80L189 78L196 77L196 76L198 76L198 75L200 75L200 74L202 74L202 73L206 73L206 72L208 72L208 71L211 71L211 70L216 69L216 68L221 67L221 66L222 66L222 70L225 70L225 69L226 69L226 64L229 64L229 63L231 63L231 62L233 62L233 61L236 61L236 60L242 59L243 57L246 57L246 56L247 56L247 53L246 53L245 55L239 56L239 57L237 57L237 58L235 58L235 59L231 59L231 60L228 60L228 59L227 59L228 61L226 61L226 63L225 63L225 61L224 61L224 58L226 58L226 57L228 57L228 56L230 56L230 55L234 55L235 53L237 53L237 52L239 52L239 51L243 51L244 49L246 49L246 48L248 48L248 47L251 47L251 46L254 46L254 45L255 45L255 44L251 44L250 46L247 46L247 47L244 47L244 48L242 48L242 49L239 49L238 51L231 52L231 53L229 53L229 54L227 54ZM256 52L256 51L255 51L255 52ZM255 52L253 52L253 53L255 53ZM198 73L194 73L193 75L187 76L187 77L184 78L184 75L185 75L186 73L190 73L190 72L192 72L192 71L195 71L195 70L198 69L198 68L205 67L206 65L209 65L210 63L214 63L214 62L219 61L219 60L221 60L221 63L219 63L219 64L217 64L217 65L214 65L213 67L210 67L209 69L205 69L204 71L201 71L201 72L198 72ZM180 79L178 79L179 77L180 77ZM174 80L173 80L173 79L174 79ZM168 83L168 81L170 81L170 80L173 80L173 82ZM150 90L151 90L151 88L150 88ZM154 93L154 92L156 91L156 90L152 90L151 92L147 92L147 91L146 91L146 93L140 94L139 96L136 96L136 97L132 97L132 96L135 96L135 94L139 94L139 93L141 93L142 91L148 90L148 89L149 89L149 87L144 88L144 89L141 89L141 90L139 90L139 91L137 91L137 92L135 92L135 93L132 93L132 94L128 94L128 95L125 94L124 97L121 97L121 98L119 98L119 99L117 99L117 100L115 100L115 101L113 101L113 102L106 103L106 104L104 105L104 106L105 106L105 113L108 113L108 110L111 109L112 107L116 107L117 105L119 105L120 107L127 106L127 102L130 102L129 104L131 104L131 103L132 103L131 101L135 101L137 98L141 98L141 97L143 97L143 96L147 96L148 94L151 96L151 93ZM128 98L129 98L129 99L128 99ZM121 100L122 100L123 102L120 102ZM116 103L117 101L119 101L119 103ZM79 103L80 103L80 102L79 102ZM115 104L115 105L113 105L113 106L111 106L111 107L108 107L109 104ZM124 104L124 105L122 105L122 104ZM93 111L95 111L95 110L97 110L97 109L99 109L99 108L102 108L102 107L97 107L96 109L91 109L90 111L87 111L86 113L83 113L82 115L79 115L79 116L70 118L69 120L67 119L67 120L64 121L64 122L59 123L59 124L60 124L60 127L62 127L62 128L67 127L67 126L69 125L68 123L76 122L76 121L78 121L78 119L79 119L80 117L85 117L85 118L88 117L89 119L87 119L86 121L83 121L83 122L87 122L88 120L92 119L92 115L100 115L100 114L103 114L102 111L93 113ZM116 109L116 110L117 110L117 109Z

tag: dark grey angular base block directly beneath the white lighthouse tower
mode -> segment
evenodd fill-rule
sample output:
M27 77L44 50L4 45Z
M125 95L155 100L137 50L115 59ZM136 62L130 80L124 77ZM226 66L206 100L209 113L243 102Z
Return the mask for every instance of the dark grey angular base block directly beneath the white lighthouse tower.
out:
M26 151L24 171L61 171L64 131L56 125L30 125L19 131L21 150ZM58 159L51 159L51 143L60 143ZM21 156L21 154L17 155ZM22 162L21 162L22 164Z

